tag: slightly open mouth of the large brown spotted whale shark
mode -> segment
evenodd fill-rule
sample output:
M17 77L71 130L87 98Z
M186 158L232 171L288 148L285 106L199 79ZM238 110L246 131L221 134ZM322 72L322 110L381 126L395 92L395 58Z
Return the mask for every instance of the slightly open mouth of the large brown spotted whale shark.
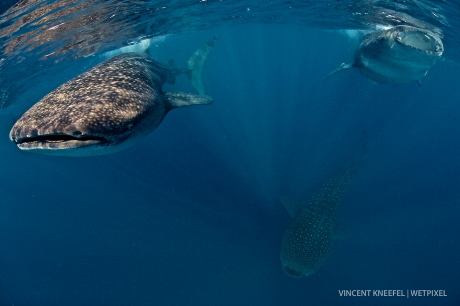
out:
M74 137L69 134L48 134L33 137L24 137L14 140L16 145L21 149L71 149L86 147L90 145L103 146L109 143L109 140L100 136L79 136Z

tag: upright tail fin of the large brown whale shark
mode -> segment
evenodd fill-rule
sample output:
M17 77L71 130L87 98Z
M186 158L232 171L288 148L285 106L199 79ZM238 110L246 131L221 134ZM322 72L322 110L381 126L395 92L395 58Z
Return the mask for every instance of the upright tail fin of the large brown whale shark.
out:
M208 40L206 44L204 44L201 48L196 50L192 56L190 56L186 64L185 75L199 94L205 94L203 80L201 79L201 70L203 69L207 55L209 54L211 48L214 46L216 40L216 36Z

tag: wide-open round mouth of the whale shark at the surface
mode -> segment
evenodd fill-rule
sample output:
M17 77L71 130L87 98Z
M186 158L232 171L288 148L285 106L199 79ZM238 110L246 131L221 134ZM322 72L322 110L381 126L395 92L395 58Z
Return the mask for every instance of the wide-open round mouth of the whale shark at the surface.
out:
M432 35L421 31L399 32L396 41L427 54L442 53L442 46Z

